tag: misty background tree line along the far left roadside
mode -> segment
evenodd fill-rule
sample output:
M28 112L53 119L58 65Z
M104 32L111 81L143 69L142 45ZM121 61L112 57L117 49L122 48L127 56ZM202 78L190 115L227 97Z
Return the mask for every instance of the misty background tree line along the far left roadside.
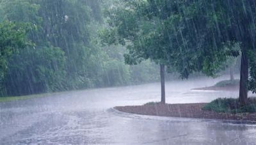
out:
M97 31L105 25L104 4L1 0L1 96L159 80L154 63L125 65L124 47L97 43Z

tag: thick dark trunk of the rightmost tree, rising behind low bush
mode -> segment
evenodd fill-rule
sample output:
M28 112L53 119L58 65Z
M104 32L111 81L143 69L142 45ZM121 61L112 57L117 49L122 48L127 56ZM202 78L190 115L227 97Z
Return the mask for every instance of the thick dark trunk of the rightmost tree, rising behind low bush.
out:
M239 90L239 102L242 105L246 105L248 99L248 68L249 64L247 54L246 52L242 51Z

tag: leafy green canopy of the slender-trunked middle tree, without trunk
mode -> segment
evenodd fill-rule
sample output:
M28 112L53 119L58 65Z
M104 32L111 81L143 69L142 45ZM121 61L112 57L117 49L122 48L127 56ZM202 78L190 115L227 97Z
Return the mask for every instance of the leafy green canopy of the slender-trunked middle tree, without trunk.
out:
M207 22L205 13L195 9L196 4L200 3L168 0L118 3L106 13L110 28L102 31L102 43L125 45L129 50L125 54L127 64L151 59L172 67L182 78L195 71L214 76L227 55L237 50L227 47L231 42L215 46L215 38L205 34L209 29L207 23L200 27L202 30L200 25L196 29L195 20ZM195 30L191 31L193 27Z

